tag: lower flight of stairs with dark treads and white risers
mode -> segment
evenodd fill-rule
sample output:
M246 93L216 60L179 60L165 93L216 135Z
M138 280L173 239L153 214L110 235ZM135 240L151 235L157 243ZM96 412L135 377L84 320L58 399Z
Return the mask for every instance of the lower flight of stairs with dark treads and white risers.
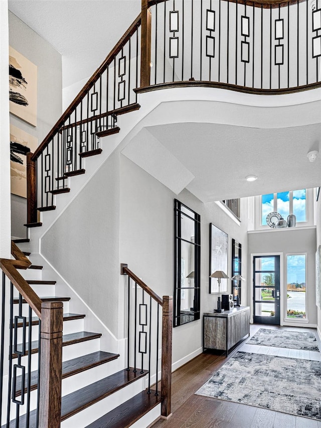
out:
M23 241L23 242L22 242ZM24 257L33 260L33 255L28 251L28 239L16 240L16 244L23 246ZM24 243L26 242L26 243ZM14 246L13 246L14 247ZM14 247L15 255L19 254L17 247ZM145 377L148 370L136 370L135 367L127 367L118 370L117 359L119 354L101 351L99 341L101 333L86 331L85 314L70 313L70 297L56 296L56 281L43 278L42 266L31 264L29 268L19 269L27 283L37 293L42 302L63 302L63 361L62 361L62 399L61 399L61 427L127 427L149 426L160 414L161 395L155 390L147 393L145 390ZM19 320L16 319L13 325L14 335L18 337L18 345L12 351L12 361L14 364L22 366L28 365L27 356L29 353L35 354L30 364L31 375L16 377L16 385L24 385L24 392L30 390L29 426L37 426L37 410L32 409L37 402L38 393L38 327L39 318L32 316L31 322L28 317L28 304L21 294L15 292L14 313L18 313L21 306ZM30 311L31 312L31 311ZM23 317L26 316L24 321ZM19 322L20 321L20 322ZM24 322L35 326L32 329L30 342L22 341L22 331ZM22 343L20 343L22 341ZM25 349L24 349L25 347ZM21 353L23 356L21 356ZM28 385L28 383L30 383ZM15 398L20 399L22 388L16 388ZM158 406L158 407L157 407ZM14 406L13 406L14 407ZM152 411L154 409L154 411ZM17 422L16 409L12 408L10 423L3 427L26 426L26 414L23 408L19 414L19 424ZM143 417L143 419L142 419ZM49 424L49 426L52 426Z

